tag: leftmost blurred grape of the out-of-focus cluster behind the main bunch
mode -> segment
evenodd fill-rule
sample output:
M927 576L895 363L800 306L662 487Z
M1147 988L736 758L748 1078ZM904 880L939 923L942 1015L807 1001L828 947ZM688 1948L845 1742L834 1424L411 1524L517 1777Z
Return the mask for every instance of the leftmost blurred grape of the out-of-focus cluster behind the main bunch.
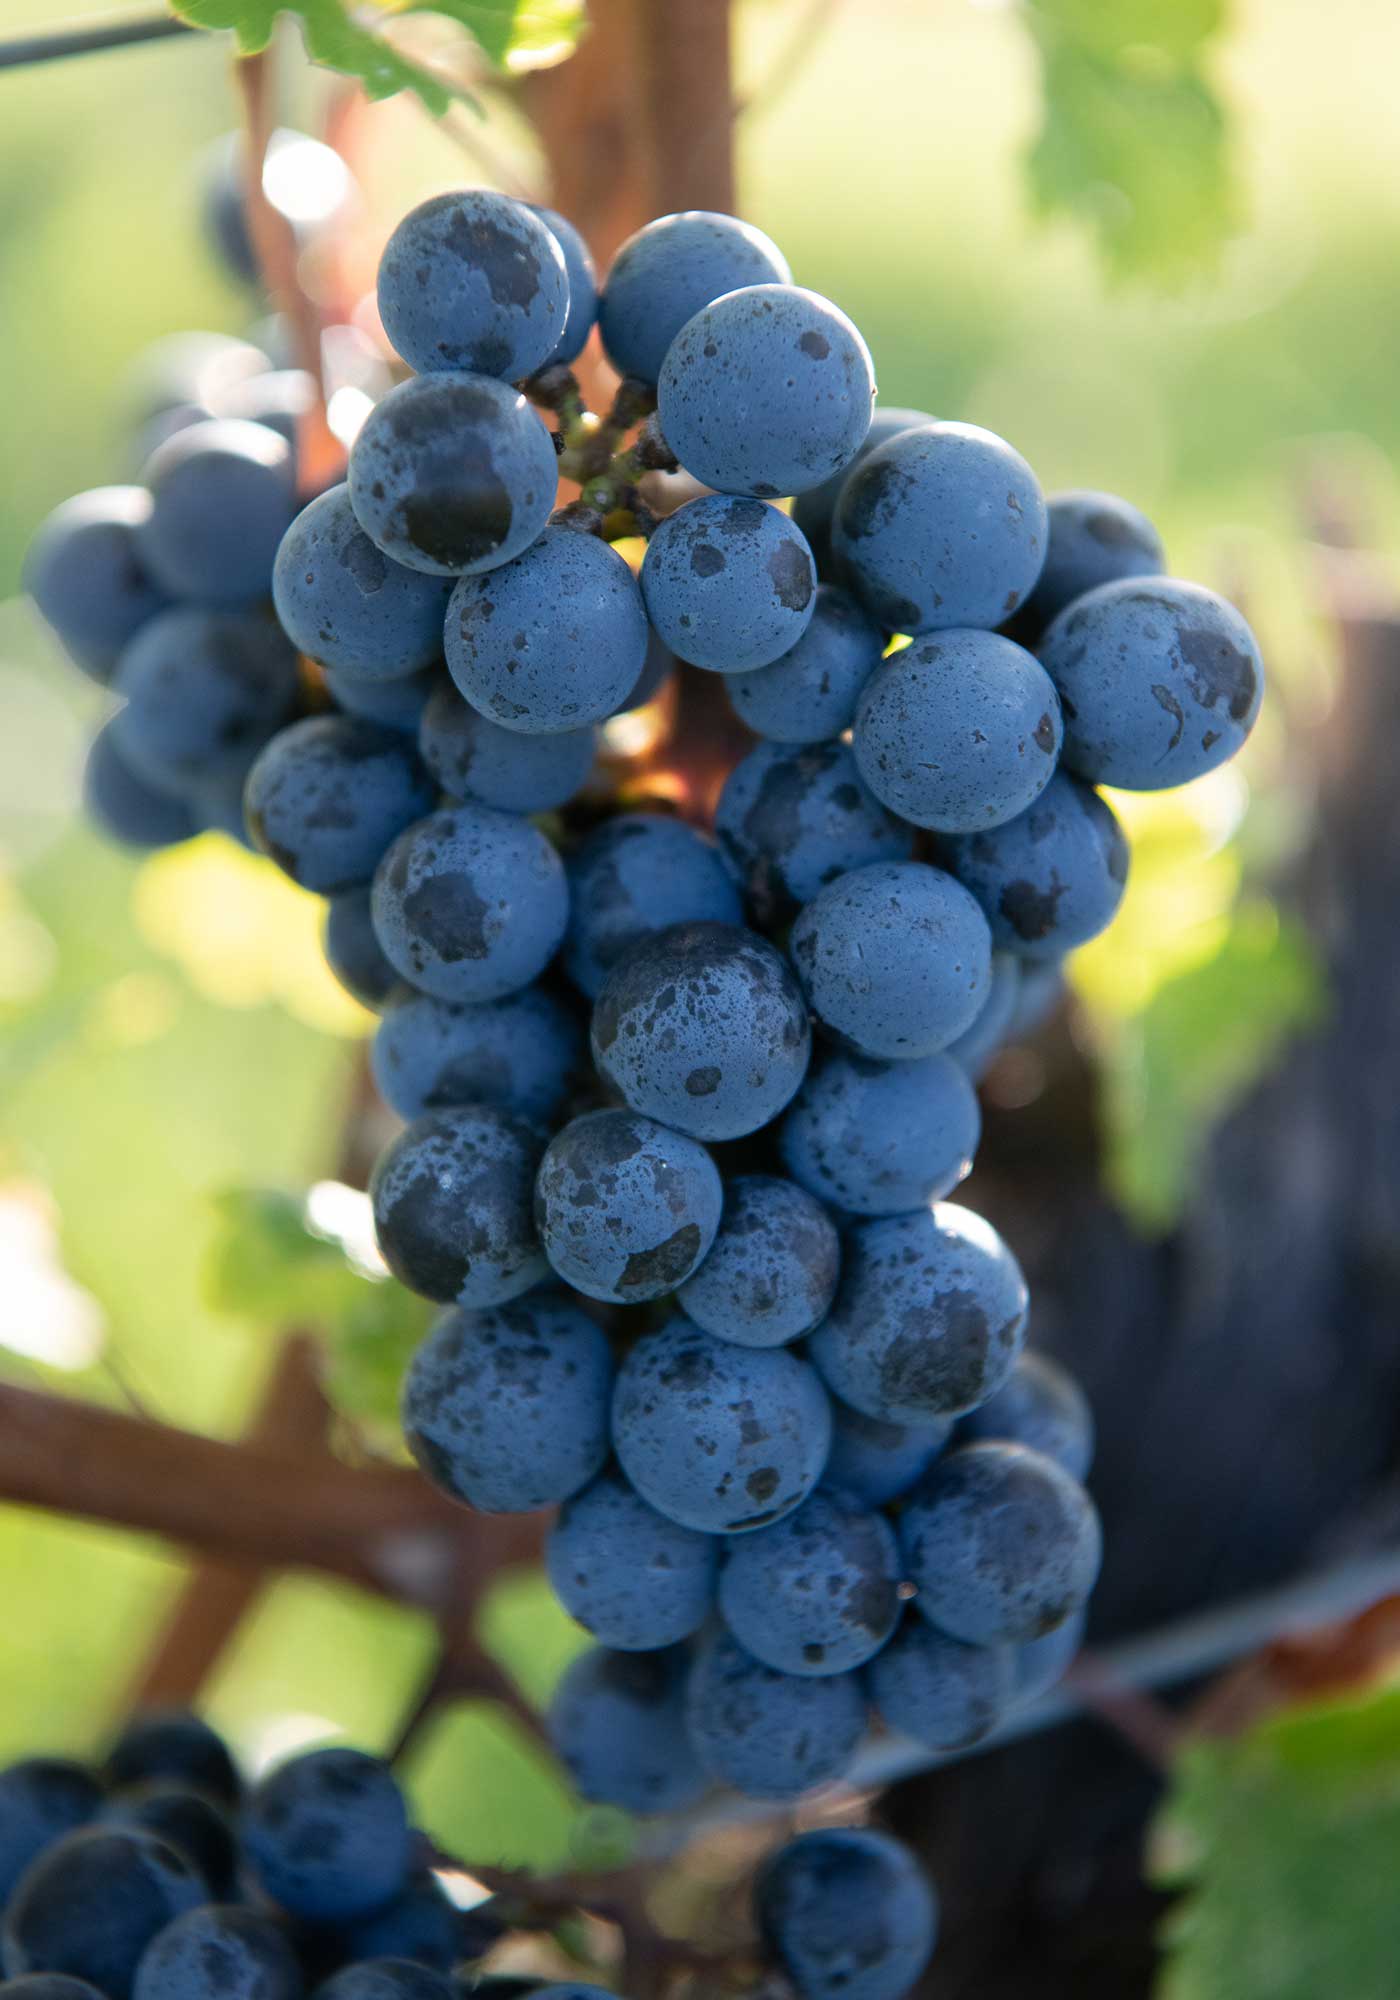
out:
M170 602L142 562L148 518L144 486L98 486L56 506L24 556L24 588L94 680L112 678L126 642Z

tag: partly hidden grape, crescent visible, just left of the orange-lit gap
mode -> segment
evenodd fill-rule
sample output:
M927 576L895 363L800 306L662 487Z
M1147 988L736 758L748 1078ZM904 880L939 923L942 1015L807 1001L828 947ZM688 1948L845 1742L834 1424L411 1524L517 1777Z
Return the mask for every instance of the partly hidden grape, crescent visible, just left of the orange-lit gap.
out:
M498 812L552 812L582 788L594 766L594 728L522 736L488 722L450 680L428 696L418 724L418 754L448 798L470 798Z

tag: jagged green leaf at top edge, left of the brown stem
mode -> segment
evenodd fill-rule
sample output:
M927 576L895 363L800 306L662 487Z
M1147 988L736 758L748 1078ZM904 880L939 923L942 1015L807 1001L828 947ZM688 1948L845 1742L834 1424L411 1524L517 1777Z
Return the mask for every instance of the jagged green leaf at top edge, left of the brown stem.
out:
M268 46L278 14L298 14L312 62L358 76L372 98L416 90L438 116L454 98L470 102L470 92L394 48L384 26L396 16L446 14L468 30L492 68L508 74L562 62L584 28L582 0L432 0L430 6L400 0L382 12L342 0L296 0L286 8L282 0L172 0L172 6L196 28L232 28L244 56Z

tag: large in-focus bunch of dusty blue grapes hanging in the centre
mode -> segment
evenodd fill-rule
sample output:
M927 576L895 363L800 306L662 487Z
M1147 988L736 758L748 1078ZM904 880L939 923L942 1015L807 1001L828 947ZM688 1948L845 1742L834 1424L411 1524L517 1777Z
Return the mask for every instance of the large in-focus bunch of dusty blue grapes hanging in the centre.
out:
M596 294L562 218L448 194L378 304L416 372L272 566L354 712L278 718L244 810L384 1014L378 1240L446 1308L408 1444L466 1506L558 1506L584 1796L796 1798L872 1722L974 1744L1064 1670L1100 1562L1084 1398L948 1200L974 1084L1118 908L1096 786L1232 756L1254 638L1122 500L874 410L858 330L734 218L648 224ZM672 662L756 736L712 828L594 772Z

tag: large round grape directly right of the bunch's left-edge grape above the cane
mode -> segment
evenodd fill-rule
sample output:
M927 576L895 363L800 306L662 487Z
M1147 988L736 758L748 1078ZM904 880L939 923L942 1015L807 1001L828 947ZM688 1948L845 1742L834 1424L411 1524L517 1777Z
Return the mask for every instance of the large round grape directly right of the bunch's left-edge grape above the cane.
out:
M680 1314L630 1350L612 1398L612 1448L644 1500L702 1534L790 1514L822 1476L832 1412L786 1348L740 1348Z

